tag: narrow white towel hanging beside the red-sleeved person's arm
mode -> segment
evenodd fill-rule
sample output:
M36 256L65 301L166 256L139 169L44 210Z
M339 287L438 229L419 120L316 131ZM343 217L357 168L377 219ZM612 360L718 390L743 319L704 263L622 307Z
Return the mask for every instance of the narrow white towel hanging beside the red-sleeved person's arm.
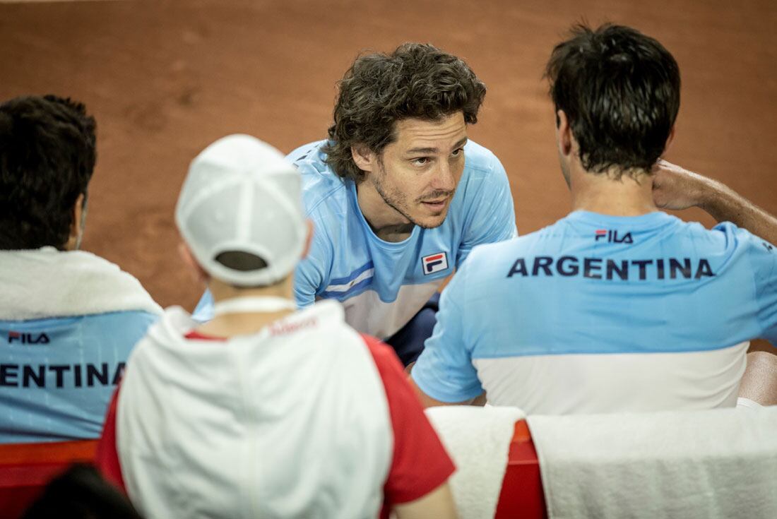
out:
M497 511L515 423L514 407L441 406L427 416L456 464L450 485L460 519L491 519Z

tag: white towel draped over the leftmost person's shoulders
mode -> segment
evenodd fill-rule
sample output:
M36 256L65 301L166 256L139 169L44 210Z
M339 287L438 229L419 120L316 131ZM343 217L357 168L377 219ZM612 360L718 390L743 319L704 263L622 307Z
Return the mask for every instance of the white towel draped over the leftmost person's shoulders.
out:
M0 251L2 320L131 310L162 315L140 281L106 259L54 247Z

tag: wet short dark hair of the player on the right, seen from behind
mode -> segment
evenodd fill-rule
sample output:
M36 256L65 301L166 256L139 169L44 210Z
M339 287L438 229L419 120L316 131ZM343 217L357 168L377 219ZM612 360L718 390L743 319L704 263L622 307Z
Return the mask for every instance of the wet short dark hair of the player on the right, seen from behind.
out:
M589 172L650 168L680 108L680 69L664 46L630 27L580 24L545 69Z

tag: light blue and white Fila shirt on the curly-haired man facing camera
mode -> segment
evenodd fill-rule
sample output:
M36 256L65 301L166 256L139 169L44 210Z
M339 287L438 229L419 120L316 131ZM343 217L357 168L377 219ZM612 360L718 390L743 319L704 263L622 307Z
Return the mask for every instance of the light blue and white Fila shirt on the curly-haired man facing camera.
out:
M287 156L302 174L307 218L315 225L294 277L300 307L336 299L350 326L385 339L420 310L472 247L517 234L507 174L483 146L465 145L464 172L442 225L416 226L406 240L385 242L361 214L355 183L324 162L325 144L313 142ZM198 320L212 316L210 294L194 313Z

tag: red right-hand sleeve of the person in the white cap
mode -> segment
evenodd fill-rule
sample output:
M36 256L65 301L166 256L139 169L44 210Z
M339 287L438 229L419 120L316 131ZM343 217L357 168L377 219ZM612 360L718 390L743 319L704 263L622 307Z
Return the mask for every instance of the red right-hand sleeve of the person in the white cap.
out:
M394 351L371 336L362 336L378 367L394 432L394 457L384 486L386 504L409 503L448 480L455 465L423 413Z

